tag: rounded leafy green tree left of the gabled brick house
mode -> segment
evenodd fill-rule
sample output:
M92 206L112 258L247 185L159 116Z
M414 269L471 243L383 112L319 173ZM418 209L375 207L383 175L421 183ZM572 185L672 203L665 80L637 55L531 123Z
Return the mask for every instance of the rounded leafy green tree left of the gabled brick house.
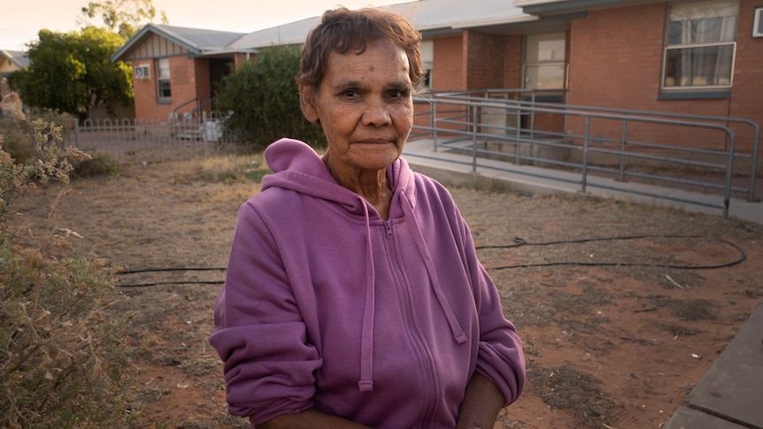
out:
M91 107L133 103L129 65L111 60L124 42L119 34L86 27L66 34L41 30L38 35L27 52L31 65L14 73L27 105L84 119Z

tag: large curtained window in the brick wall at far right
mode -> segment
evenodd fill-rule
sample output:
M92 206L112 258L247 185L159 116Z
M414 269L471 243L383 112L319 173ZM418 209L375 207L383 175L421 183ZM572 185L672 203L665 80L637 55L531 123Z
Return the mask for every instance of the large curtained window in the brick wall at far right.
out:
M671 5L662 88L731 87L738 15L738 1Z

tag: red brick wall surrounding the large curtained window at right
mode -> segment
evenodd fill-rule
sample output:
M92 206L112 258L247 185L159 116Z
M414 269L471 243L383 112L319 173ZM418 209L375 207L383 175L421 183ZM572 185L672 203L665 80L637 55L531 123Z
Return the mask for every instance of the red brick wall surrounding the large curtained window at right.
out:
M763 40L751 38L753 9L753 0L742 1L734 87L730 99L720 100L659 100L667 4L589 11L587 18L572 21L569 103L705 116L744 116L763 123L760 110ZM597 137L620 136L620 123L599 120L593 124L592 133ZM582 133L582 129L582 120L568 122L568 131ZM718 131L636 122L628 123L628 140L691 144L708 149L727 146L725 134ZM751 150L751 140L739 140L737 149Z

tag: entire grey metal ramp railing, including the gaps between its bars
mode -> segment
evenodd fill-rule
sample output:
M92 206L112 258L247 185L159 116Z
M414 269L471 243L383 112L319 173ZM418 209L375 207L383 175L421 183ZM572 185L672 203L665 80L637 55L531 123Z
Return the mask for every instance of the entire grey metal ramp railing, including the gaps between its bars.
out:
M570 181L585 192L589 186L634 193L628 181L662 187L698 189L722 195L722 202L664 194L643 195L700 204L723 210L728 216L731 195L756 198L759 126L749 119L717 118L650 111L597 109L566 103L538 102L538 93L501 91L432 94L416 99L417 113L411 139L431 139L435 151L460 151L472 155L472 169L499 168L528 174L513 165L537 165L546 172L529 173L544 179ZM559 92L557 92L559 94ZM543 96L543 95L541 95ZM563 96L559 96L562 100ZM427 125L422 125L427 124ZM731 125L749 126L751 148L738 151ZM649 130L657 132L649 137ZM708 144L661 138L702 134ZM416 155L422 156L422 155ZM435 156L428 156L438 158ZM483 160L501 159L503 167ZM442 159L445 159L444 157ZM592 183L590 176L613 180Z

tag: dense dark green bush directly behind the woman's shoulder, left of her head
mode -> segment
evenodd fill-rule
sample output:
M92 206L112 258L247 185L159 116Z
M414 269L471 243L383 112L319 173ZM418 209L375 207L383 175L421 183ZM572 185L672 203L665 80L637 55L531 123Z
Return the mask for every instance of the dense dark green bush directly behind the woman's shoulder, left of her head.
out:
M282 137L325 146L320 126L304 119L299 107L295 80L299 57L298 46L268 47L226 77L216 107L227 118L227 132L250 142L252 149L265 148Z

